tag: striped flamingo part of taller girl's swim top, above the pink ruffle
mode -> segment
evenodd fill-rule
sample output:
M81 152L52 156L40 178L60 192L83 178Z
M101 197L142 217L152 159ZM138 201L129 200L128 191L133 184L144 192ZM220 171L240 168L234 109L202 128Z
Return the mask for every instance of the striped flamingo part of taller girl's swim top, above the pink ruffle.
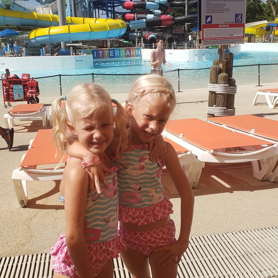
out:
M121 158L111 163L119 168L119 204L127 207L148 207L163 200L163 186L160 175L163 159L150 160L148 145L132 145L123 150Z

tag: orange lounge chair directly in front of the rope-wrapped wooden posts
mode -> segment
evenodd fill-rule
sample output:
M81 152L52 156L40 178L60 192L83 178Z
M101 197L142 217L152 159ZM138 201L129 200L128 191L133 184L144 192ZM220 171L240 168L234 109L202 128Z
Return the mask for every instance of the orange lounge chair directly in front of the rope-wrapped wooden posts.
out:
M215 117L208 118L207 121L220 125L237 132L248 134L255 138L263 138L266 141L272 143L278 143L278 121L271 120L268 118L258 117L254 115L238 115L238 116L227 116L227 117ZM270 182L278 181L278 167L276 165L278 161L278 155L274 157L264 158L258 161L252 161L253 169L259 167L267 167L268 170L265 173L264 179ZM254 172L254 176L258 170Z

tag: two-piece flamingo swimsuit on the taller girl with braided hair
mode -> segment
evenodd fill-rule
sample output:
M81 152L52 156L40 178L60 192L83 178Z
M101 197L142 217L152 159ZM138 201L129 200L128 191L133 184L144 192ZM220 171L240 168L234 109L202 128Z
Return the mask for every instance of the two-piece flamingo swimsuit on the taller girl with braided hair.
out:
M163 195L160 175L163 158L150 160L148 145L132 145L121 158L112 159L118 167L119 220L136 225L155 223L173 213L172 203ZM175 239L175 224L151 231L131 231L119 226L119 235L127 247L149 255L156 247L169 245Z

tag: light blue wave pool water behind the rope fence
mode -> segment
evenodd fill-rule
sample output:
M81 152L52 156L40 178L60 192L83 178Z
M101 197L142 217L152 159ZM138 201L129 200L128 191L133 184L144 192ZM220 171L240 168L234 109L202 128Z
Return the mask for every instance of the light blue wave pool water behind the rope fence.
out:
M84 56L86 57L86 56ZM166 57L167 58L167 57ZM171 67L163 66L164 76L167 78L175 90L178 90L178 73L172 71L180 70L180 89L203 88L209 83L209 69L212 66L212 61L198 62L171 62ZM250 64L270 64L278 63L277 52L273 51L242 51L240 55L234 56L234 66L250 65ZM188 70L194 69L194 70ZM129 93L129 90L140 74L150 73L150 60L130 61L130 62L98 62L91 69L78 70L59 70L59 71L31 71L31 77L43 77L51 75L78 75L90 74L85 76L61 76L62 94L66 95L75 85L91 82L94 73L94 80L99 85L103 86L111 95L118 93ZM278 65L260 66L260 83L278 82ZM19 77L23 71L13 71ZM104 75L113 74L113 75ZM128 75L123 75L128 74ZM137 75L130 75L137 74ZM235 67L233 69L233 78L237 85L242 84L257 84L258 82L258 66ZM59 76L37 79L39 82L40 96L54 97L60 95Z

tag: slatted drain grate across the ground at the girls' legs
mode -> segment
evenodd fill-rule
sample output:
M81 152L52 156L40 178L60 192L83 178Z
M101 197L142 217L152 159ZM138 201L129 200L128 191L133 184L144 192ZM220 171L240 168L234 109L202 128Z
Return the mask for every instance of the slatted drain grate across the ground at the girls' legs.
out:
M113 265L116 278L131 278L120 258ZM0 278L52 277L48 253L0 259ZM191 237L177 277L278 277L278 227Z

